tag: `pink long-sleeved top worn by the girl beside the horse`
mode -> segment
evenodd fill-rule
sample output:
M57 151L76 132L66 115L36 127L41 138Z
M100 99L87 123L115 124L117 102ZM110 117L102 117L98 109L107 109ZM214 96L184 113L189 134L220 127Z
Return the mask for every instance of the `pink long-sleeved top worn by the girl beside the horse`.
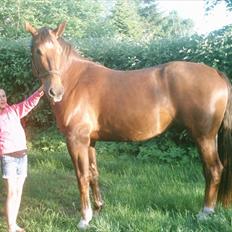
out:
M0 156L27 149L20 119L38 104L42 95L43 91L37 90L25 101L11 106L6 105L0 112Z

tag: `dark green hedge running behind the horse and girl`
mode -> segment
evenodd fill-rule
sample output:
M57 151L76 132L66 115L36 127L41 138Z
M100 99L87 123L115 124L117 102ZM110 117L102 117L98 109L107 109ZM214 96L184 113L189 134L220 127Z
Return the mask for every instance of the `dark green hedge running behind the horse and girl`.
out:
M72 41L72 44L84 56L113 69L131 70L186 60L204 62L232 77L232 26L206 37L194 35L152 42L86 38ZM30 38L0 40L0 86L6 90L11 103L23 100L39 86L39 82L32 77L29 45ZM39 110L30 114L30 125L47 127L53 124L49 104L44 99Z

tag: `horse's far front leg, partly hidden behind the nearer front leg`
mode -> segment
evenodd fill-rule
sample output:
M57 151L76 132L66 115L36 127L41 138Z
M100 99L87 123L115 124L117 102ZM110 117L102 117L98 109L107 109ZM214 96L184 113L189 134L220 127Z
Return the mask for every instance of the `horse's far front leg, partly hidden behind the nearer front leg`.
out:
M103 201L98 184L98 168L96 160L96 149L94 147L89 148L89 169L90 169L90 186L93 192L93 200L96 211L100 211L103 206Z

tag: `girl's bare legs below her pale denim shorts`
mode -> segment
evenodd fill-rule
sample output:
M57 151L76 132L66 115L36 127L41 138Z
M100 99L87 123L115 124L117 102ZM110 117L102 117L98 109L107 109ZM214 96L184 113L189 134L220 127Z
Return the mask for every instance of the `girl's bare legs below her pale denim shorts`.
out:
M25 178L9 178L5 180L7 189L6 216L9 232L24 231L17 226L16 220L20 208Z

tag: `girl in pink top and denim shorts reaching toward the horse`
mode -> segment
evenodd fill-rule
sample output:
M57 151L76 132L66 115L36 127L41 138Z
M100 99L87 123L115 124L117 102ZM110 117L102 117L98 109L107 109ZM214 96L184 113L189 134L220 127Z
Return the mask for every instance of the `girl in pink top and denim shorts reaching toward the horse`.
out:
M26 136L20 119L39 103L43 94L41 86L26 100L9 105L5 91L0 88L0 157L2 176L7 191L8 232L25 231L16 223L23 185L27 176Z

